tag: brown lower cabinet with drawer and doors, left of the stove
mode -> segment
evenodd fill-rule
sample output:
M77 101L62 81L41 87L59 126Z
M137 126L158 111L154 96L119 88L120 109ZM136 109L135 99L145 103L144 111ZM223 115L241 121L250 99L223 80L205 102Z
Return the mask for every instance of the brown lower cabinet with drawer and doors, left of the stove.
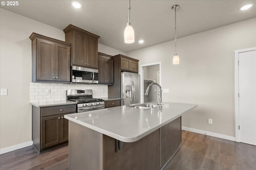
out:
M32 140L39 153L67 144L68 120L64 118L64 115L71 113L76 113L76 104L32 106Z

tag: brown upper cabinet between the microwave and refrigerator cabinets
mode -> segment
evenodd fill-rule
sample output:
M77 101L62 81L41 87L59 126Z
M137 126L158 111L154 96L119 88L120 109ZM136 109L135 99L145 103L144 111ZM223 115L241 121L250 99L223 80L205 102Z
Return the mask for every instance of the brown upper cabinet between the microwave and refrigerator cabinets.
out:
M98 53L98 80L102 84L114 83L114 60L113 56Z

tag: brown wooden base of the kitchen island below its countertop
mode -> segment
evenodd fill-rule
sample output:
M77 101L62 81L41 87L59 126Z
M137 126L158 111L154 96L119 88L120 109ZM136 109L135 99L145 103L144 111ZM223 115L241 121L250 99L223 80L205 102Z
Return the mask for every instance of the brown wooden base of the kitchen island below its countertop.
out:
M118 140L72 121L69 132L69 169L160 170L180 148L181 117L120 150Z

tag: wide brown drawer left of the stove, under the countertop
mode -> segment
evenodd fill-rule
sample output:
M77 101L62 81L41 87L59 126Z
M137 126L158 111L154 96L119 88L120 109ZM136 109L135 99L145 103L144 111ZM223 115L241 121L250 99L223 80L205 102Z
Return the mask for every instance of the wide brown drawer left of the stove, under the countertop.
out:
M41 108L41 116L58 115L63 113L76 112L76 104L62 105L62 106L49 106Z

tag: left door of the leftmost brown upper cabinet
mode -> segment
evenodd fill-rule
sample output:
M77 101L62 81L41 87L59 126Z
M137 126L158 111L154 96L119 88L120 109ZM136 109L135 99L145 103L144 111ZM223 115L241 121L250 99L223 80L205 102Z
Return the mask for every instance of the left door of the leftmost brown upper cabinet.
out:
M36 79L55 80L55 43L37 39Z

